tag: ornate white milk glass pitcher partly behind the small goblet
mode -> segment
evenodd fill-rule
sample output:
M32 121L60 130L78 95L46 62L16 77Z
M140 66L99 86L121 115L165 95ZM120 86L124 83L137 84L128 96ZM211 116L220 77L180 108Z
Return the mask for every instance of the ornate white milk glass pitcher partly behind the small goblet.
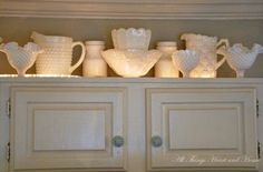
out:
M199 54L198 65L189 73L191 78L215 78L216 70L224 63L225 57L217 61L217 54L222 54L220 47L228 47L227 39L217 41L216 37L185 33L181 37L186 41L186 49L194 50ZM222 54L224 55L224 54Z

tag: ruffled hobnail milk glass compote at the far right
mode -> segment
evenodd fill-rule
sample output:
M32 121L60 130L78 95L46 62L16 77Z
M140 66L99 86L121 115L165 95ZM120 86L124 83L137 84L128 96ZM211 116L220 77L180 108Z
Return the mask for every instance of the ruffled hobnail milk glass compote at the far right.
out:
M254 44L250 50L241 43L236 43L228 49L224 49L226 61L230 67L236 72L237 78L244 77L245 70L250 69L257 54L263 53L263 47Z

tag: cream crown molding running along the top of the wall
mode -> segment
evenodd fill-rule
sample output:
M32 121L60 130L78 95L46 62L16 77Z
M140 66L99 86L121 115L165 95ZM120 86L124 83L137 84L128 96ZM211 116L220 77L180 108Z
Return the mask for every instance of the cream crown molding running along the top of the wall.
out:
M263 19L263 0L0 0L0 17Z

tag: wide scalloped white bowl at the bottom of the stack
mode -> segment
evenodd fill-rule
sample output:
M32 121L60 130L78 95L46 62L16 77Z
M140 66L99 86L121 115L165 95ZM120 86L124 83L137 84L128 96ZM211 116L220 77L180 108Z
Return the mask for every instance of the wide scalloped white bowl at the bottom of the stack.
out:
M116 50L101 52L108 65L119 75L136 78L145 75L159 60L162 53L157 50Z

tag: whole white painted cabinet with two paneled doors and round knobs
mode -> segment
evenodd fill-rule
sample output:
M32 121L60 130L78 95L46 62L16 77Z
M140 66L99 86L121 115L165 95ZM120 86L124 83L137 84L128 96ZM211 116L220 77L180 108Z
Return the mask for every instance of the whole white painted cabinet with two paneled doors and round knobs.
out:
M11 101L10 120L0 121L0 144L10 141L11 160L0 154L0 172L230 172L262 165L260 79L25 78L0 85L1 105Z

